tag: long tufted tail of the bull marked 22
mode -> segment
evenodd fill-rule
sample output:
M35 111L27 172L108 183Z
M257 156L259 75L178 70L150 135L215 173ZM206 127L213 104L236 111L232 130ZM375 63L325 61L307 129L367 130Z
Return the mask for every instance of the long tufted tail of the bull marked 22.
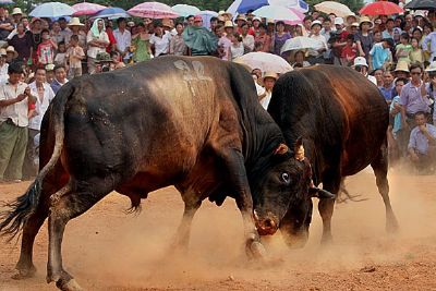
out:
M14 202L2 205L4 210L0 211L0 235L9 237L8 241L14 239L22 231L29 217L37 211L43 191L43 181L47 173L55 168L62 153L64 113L66 102L72 94L73 86L65 84L53 100L51 120L55 128L55 148L49 161L39 171L24 195L17 197Z

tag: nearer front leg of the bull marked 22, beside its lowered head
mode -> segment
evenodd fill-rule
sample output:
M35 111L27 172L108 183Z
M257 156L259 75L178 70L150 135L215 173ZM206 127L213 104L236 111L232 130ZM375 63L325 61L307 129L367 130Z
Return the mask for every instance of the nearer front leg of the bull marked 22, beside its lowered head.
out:
M229 172L230 182L235 191L238 208L242 214L246 254L255 258L264 258L266 251L261 243L253 218L253 199L246 177L244 157L237 149L231 149L221 157Z

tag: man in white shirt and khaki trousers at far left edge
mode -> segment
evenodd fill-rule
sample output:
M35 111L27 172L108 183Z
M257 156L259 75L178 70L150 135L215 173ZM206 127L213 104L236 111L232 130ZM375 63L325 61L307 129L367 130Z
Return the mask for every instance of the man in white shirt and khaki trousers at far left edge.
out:
M7 83L0 85L0 182L5 178L21 182L28 138L27 113L29 106L35 105L36 97L21 81L21 64L12 63L8 74Z

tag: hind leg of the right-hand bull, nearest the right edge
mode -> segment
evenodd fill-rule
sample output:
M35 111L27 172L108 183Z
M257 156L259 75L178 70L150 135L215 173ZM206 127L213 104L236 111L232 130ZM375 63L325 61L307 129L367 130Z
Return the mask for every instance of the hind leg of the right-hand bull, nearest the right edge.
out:
M374 170L375 181L378 187L378 192L383 197L386 208L386 230L388 232L395 232L398 230L398 221L393 214L392 206L389 199L389 183L388 183L388 155L387 148L384 145L375 160L371 162L371 167Z

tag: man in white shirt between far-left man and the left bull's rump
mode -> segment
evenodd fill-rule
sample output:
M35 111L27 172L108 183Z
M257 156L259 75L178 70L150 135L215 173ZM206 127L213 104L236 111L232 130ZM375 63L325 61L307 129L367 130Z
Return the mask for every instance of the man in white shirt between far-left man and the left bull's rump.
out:
M37 150L34 140L35 136L39 134L43 117L51 100L55 98L55 93L51 89L50 84L46 81L46 69L44 68L36 69L35 81L28 86L31 87L32 95L36 97L36 102L35 109L29 110L28 142L23 163L23 180L28 180L37 173L35 165Z

